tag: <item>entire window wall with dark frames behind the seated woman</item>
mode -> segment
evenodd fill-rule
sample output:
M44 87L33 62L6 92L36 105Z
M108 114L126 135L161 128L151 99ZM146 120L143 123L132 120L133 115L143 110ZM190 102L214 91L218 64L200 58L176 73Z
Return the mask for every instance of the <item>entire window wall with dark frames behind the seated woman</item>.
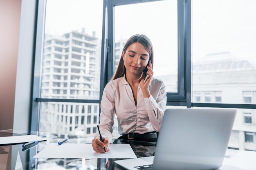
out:
M229 147L256 150L255 7L254 0L39 0L32 129L93 135L103 88L138 33L153 43L168 108L238 108ZM117 137L117 122L113 130Z

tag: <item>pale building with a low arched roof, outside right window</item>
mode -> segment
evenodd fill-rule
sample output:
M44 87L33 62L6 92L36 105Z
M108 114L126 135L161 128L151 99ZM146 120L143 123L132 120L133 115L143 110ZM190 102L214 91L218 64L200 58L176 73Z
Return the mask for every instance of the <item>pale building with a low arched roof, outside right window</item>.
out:
M194 103L256 104L256 66L232 53L213 53L193 63ZM256 110L237 109L229 147L256 151Z

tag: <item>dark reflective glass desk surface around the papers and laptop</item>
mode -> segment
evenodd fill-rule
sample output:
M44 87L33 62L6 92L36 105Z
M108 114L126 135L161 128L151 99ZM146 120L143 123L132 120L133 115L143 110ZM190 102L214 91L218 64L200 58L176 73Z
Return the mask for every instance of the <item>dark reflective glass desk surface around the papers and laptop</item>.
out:
M63 159L63 158L33 158L50 143L69 137L69 143L91 143L93 137L76 135L63 135L45 132L24 132L21 130L2 130L0 137L37 135L46 138L29 148L22 148L22 144L0 146L0 170L124 170L114 161L117 159ZM0 138L1 139L1 138ZM127 141L115 139L114 144L130 144L137 157L149 157L155 155L155 142ZM256 152L230 150L226 152L223 166L220 170L256 170Z

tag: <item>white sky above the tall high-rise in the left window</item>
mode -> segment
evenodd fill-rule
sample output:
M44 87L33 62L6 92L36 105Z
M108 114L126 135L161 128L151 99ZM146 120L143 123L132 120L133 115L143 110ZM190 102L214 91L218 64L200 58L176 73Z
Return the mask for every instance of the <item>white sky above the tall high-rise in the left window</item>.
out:
M73 30L101 38L103 0L47 0L45 33L63 35ZM89 17L88 17L89 16Z

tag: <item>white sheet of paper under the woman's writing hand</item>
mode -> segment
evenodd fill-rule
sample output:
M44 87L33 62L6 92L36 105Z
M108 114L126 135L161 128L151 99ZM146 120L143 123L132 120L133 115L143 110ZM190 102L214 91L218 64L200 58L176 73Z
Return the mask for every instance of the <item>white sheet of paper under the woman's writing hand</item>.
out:
M109 144L109 152L98 153L92 144L49 144L34 158L137 158L129 144Z

